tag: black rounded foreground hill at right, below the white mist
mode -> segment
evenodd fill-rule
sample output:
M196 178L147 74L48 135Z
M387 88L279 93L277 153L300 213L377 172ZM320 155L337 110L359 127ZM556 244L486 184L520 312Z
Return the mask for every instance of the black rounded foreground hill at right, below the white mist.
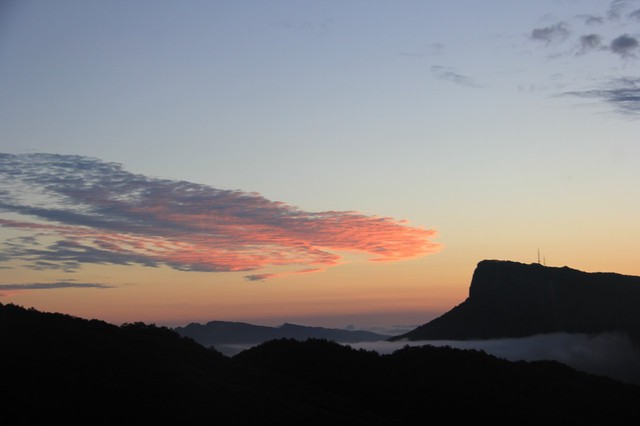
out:
M323 340L276 340L234 361L259 367L273 390L295 397L311 385L373 413L372 424L616 424L640 418L640 387L552 361L509 362L450 347L405 347L390 355ZM285 379L282 379L285 378Z

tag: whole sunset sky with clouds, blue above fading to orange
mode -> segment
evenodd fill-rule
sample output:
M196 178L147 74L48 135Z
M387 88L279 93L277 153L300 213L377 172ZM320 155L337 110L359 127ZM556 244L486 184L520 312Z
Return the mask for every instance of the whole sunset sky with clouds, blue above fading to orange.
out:
M640 275L640 1L6 0L0 303L379 329Z

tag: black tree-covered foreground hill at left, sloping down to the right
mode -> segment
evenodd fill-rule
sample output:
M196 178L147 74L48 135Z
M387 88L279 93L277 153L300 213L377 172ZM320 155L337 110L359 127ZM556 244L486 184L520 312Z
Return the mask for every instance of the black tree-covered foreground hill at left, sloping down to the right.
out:
M368 415L303 383L295 398L274 392L280 378L165 327L11 304L0 304L0 366L3 425L329 425Z

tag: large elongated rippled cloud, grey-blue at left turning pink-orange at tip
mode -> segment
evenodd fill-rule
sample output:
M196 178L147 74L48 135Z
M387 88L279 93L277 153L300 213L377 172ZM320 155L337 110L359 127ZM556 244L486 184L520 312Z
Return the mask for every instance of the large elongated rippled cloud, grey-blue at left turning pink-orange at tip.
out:
M0 211L12 214L0 218L1 227L31 232L5 241L0 261L34 269L96 263L223 272L295 265L294 273L306 273L340 263L335 252L397 261L441 248L431 241L435 231L393 218L305 212L256 193L147 177L80 156L0 154Z

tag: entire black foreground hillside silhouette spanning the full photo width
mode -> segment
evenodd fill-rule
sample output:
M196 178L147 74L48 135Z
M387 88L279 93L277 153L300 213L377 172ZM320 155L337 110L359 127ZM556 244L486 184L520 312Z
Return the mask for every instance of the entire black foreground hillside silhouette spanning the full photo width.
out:
M3 424L631 424L640 387L555 362L327 340L225 357L175 331L0 304Z

